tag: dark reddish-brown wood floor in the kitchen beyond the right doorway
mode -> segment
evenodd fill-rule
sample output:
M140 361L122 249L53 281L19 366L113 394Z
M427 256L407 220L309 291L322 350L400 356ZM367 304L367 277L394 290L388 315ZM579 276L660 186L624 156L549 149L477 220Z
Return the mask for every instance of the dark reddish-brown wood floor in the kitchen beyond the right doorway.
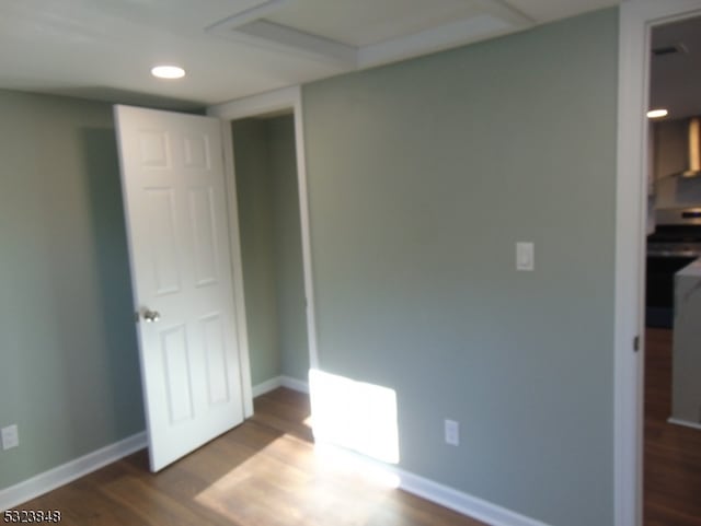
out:
M701 526L701 430L667 423L671 330L647 329L645 353L645 526Z

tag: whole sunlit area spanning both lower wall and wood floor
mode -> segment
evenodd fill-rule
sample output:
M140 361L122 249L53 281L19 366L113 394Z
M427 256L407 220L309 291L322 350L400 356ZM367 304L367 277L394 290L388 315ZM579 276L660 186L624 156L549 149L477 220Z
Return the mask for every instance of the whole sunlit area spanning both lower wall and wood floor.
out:
M383 503L400 484L388 466L400 458L397 393L317 370L309 376L303 423L314 443L272 437L202 490L198 504L242 526L386 522L392 512Z

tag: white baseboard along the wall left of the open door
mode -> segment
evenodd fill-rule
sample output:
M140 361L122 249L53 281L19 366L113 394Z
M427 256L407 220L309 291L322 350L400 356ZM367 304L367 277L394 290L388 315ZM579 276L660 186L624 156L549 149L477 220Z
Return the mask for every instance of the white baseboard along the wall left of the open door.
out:
M10 510L44 493L83 477L101 467L126 457L148 445L146 432L137 433L123 441L70 460L19 484L0 490L0 510Z

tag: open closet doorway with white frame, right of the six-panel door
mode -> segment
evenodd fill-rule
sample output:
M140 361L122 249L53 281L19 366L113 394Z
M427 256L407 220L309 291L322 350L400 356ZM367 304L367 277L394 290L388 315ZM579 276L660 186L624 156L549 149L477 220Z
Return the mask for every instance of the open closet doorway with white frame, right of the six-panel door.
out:
M233 145L232 150L225 151L227 156L226 164L228 165L228 174L230 180L228 182L229 188L229 210L232 213L231 221L234 225L231 229L231 235L237 237L233 239L232 246L243 246L243 243L249 245L249 254L237 254L234 260L243 260L243 258L253 258L248 261L249 280L252 280L251 287L258 287L257 291L261 295L258 297L266 296L265 308L261 305L255 306L249 314L252 317L256 309L268 312L275 311L277 319L273 322L277 337L271 338L268 336L262 336L262 331L265 327L269 329L271 318L267 322L261 322L262 326L256 324L257 319L253 319L251 325L253 331L260 336L256 343L256 336L253 336L253 346L267 346L267 349L258 356L251 356L250 343L248 336L243 338L241 344L242 363L244 367L248 367L252 372L252 375L246 375L243 378L244 390L244 412L246 417L253 416L253 396L260 395L267 390L272 390L278 386L290 387L292 389L308 391L308 372L318 365L317 353L317 329L315 329L315 315L314 315L314 291L312 282L312 260L311 260L311 242L309 231L309 208L307 196L307 170L304 160L304 137L303 137L303 122L302 122L302 106L301 106L301 90L299 86L285 87L277 91L253 95L246 98L232 101L230 103L220 104L217 106L210 106L207 108L207 114L214 117L218 117L222 121L222 135L225 141L231 141ZM248 136L246 129L253 130L252 135ZM237 183L238 175L237 163L239 168L245 163L252 163L255 165L262 163L260 155L250 155L246 151L246 144L239 144L239 141L234 137L239 136L239 140L252 140L254 143L252 147L257 149L258 153L263 152L263 156L267 155L267 160L263 164L267 164L268 170L266 177L269 180L267 188L261 180L245 180L242 184L249 185L249 190L253 194L249 195L250 199L254 199L254 194L263 203L268 203L272 212L264 213L265 206L253 207L252 201L246 199L245 195L241 197L237 196ZM271 140L262 140L267 136ZM261 139L261 140L258 140ZM275 161L269 159L273 154L277 157ZM257 161L256 161L257 156ZM291 170L291 168L295 170ZM242 174L243 178L253 177L254 171L249 175ZM249 191L243 189L242 191ZM295 191L296 190L296 191ZM245 201L245 202L244 202ZM242 217L238 209L239 206L248 208L245 211L246 221L257 223L257 226L249 224L248 226L239 227L238 220ZM275 212L277 209L277 212ZM258 217L256 217L256 214ZM275 229L275 218L278 218L279 229ZM266 219L267 218L267 219ZM245 219L245 218L244 218ZM268 225L265 225L267 221ZM268 232L268 241L272 239L272 245L268 244L266 249L260 246L251 246L264 242L264 238L258 238L255 235L255 229L263 225L263 231ZM240 239L240 232L248 235L248 239ZM251 235L253 234L253 235ZM277 241L275 241L277 239ZM272 248L271 248L272 246ZM269 258L275 259L275 246L284 254L286 264L280 265L275 260L269 261ZM300 294L300 250L301 250L301 287L303 288L303 294ZM252 268L255 264L255 254L266 253L267 273L268 279L264 280L263 276L256 276L256 269ZM243 264L242 267L246 265ZM258 269L260 270L260 269ZM252 273L253 272L253 273ZM235 273L235 269L234 269ZM280 276L285 284L278 287L269 280L271 276ZM244 277L242 273L235 277L239 283L244 284ZM265 284L267 283L267 284ZM267 288L267 290L266 290ZM246 290L248 293L248 290ZM272 299L275 299L273 302ZM243 300L241 304L243 304ZM248 303L248 300L246 300ZM274 307L272 306L274 305ZM278 309L279 307L279 309ZM280 315L280 313L283 313ZM306 324L306 331L302 326ZM291 344L292 348L287 347L280 351L277 350L271 352L271 346L273 342L280 341L280 337L285 338L285 335L292 335L290 340L285 341L285 344ZM303 348L306 341L307 347ZM251 348L252 352L255 349ZM306 360L304 360L306 358ZM260 360L260 363L253 363ZM276 364L279 369L276 369ZM275 376L279 371L279 376Z

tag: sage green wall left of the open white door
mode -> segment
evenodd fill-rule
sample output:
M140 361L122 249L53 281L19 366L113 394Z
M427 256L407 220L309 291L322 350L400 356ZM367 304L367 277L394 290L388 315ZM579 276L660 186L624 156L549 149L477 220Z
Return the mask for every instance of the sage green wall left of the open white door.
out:
M112 107L0 91L0 489L143 431Z

